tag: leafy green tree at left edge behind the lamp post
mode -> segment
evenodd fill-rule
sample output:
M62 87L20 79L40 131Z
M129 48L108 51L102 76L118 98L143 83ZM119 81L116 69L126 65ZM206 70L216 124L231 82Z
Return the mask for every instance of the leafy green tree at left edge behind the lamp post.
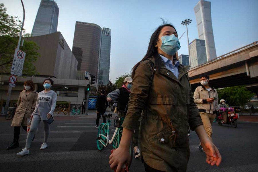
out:
M0 3L0 73L10 73L15 48L17 47L19 34L21 30L21 21L18 17L7 14L3 3ZM29 37L30 34L23 30L22 37ZM39 46L33 41L24 41L20 49L26 52L23 74L38 74L33 65L40 54L37 52Z

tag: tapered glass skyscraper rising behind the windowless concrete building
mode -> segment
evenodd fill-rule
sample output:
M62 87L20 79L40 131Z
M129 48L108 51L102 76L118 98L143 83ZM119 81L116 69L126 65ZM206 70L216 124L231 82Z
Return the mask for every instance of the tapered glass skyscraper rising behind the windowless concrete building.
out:
M56 32L58 14L59 8L55 1L41 0L31 35L40 36Z

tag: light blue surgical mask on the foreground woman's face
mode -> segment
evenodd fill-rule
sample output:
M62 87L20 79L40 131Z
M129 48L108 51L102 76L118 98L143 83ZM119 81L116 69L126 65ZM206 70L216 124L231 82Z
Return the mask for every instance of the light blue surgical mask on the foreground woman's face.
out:
M161 49L161 51L165 52L168 55L175 55L175 53L177 52L177 50L180 49L180 42L179 39L175 36L175 34L172 35L165 35L162 36L161 38L162 44L161 47L158 47ZM159 40L160 40L159 39Z

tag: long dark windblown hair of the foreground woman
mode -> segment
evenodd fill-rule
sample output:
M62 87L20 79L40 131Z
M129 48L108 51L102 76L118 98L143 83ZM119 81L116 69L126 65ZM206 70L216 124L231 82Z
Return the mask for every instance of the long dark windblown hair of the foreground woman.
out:
M172 24L167 24L167 22L165 22L163 19L163 24L160 25L151 35L150 37L150 42L149 42L149 46L148 46L148 50L145 54L145 56L142 58L141 61L139 61L132 69L132 78L134 77L135 74L135 70L137 69L137 67L139 66L140 62L151 58L151 57L155 57L155 67L157 68L157 70L159 71L159 67L160 67L160 63L161 63L161 58L159 58L159 56L157 56L158 54L158 50L157 47L155 47L155 45L157 44L157 40L159 38L159 34L162 28L164 28L165 26L170 26L172 28L175 29L175 27ZM176 31L176 29L175 29ZM176 31L177 32L177 31ZM176 58L176 54L174 55L174 58Z

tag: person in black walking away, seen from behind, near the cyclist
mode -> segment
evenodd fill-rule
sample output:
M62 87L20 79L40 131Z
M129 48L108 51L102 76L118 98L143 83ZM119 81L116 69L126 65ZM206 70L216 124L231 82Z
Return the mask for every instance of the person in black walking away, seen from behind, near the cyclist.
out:
M101 90L100 94L101 95L97 98L97 102L96 102L97 119L96 119L96 126L95 126L95 128L99 127L100 114L102 116L103 123L106 123L106 117L104 117L104 113L106 112L106 109L107 109L107 106L108 106L108 102L107 102L107 97L104 95L105 94L105 90Z

